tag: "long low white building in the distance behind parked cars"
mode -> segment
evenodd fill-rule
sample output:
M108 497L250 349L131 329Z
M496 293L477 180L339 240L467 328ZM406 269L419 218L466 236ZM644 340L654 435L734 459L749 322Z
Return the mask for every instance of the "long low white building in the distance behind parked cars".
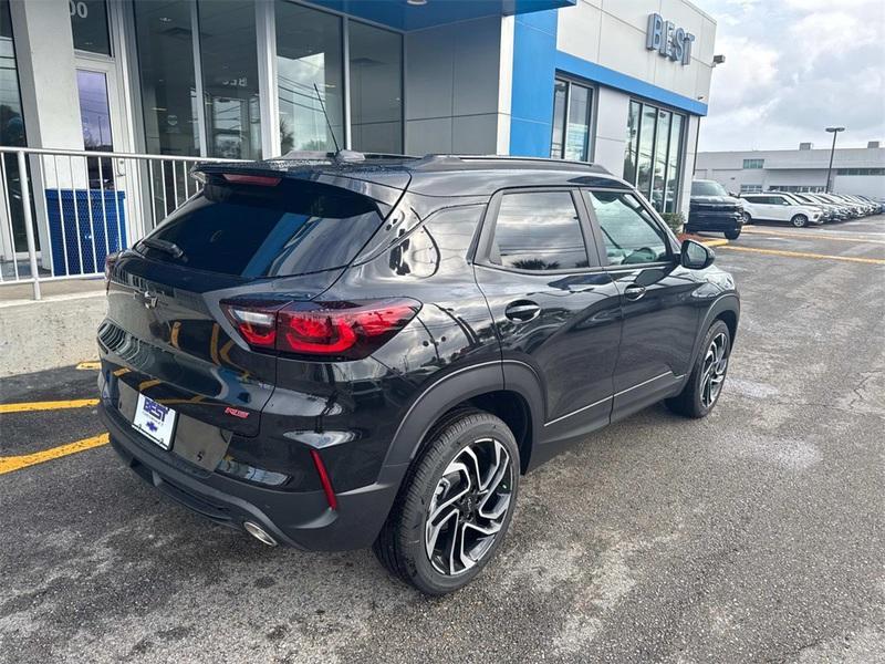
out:
M714 179L736 194L759 191L825 191L855 194L885 200L885 147L871 141L866 147L698 153L695 177Z

